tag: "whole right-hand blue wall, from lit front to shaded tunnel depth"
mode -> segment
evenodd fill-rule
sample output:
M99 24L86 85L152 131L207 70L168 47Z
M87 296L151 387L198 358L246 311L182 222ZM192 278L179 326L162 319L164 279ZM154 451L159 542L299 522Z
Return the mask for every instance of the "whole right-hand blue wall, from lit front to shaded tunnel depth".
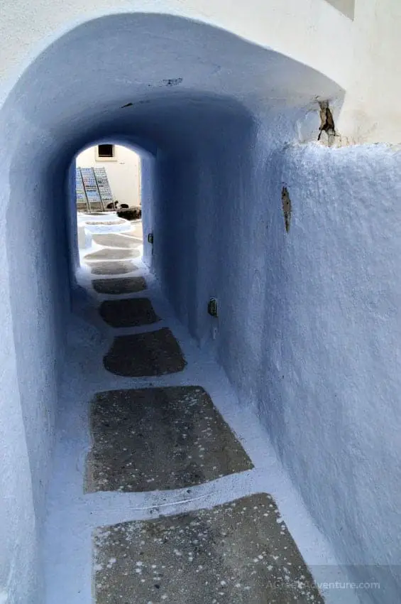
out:
M219 193L212 171L209 183L202 178L199 198L211 202L199 203L196 224L192 210L185 217L189 166L184 180L170 180L177 214L162 214L161 224L177 225L182 260L178 244L163 249L159 228L155 248L170 256L164 264L155 249L155 266L191 333L209 339L253 403L341 561L356 565L358 581L382 584L364 601L390 603L401 587L401 155L385 146L272 151L268 136L259 131L253 158L235 152L234 141L221 153L219 168L227 161L231 178ZM282 183L292 200L288 233ZM221 193L228 201L213 201ZM219 300L218 320L207 316L209 296Z

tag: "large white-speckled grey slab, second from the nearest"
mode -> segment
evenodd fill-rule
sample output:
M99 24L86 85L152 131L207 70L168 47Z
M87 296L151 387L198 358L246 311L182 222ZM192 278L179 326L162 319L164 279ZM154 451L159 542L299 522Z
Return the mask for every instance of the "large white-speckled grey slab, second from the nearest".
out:
M100 392L90 425L87 492L180 489L253 468L201 387Z

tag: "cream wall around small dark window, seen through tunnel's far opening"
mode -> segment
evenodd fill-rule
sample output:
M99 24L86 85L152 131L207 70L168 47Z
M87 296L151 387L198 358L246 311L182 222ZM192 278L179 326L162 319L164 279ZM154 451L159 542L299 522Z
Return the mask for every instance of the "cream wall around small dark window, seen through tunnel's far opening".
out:
M116 157L97 159L97 146L89 147L77 156L79 168L106 168L107 178L114 200L128 205L141 204L141 158L121 145L115 145Z

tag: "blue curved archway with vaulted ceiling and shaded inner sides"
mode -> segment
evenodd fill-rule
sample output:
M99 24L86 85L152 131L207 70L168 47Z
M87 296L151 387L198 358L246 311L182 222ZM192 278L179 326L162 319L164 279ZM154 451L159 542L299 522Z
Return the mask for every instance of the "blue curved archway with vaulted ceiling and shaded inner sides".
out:
M238 296L243 308L249 285L243 252L252 227L242 218L261 195L255 178L271 150L295 138L297 119L316 97L341 102L342 91L311 68L231 33L155 14L84 23L18 80L0 111L0 135L9 141L0 163L6 259L0 279L12 325L9 393L26 438L21 472L27 464L30 472L26 492L7 489L24 500L23 523L30 525L33 506L41 526L53 448L72 284L66 203L72 158L106 138L154 157L155 195L146 219L155 234L153 269L177 316L203 342L209 338L204 306L215 291L238 320L232 300ZM223 322L219 360L231 338L230 322ZM31 584L26 589L34 602L37 535L28 533L23 568L15 567L21 586ZM15 560L15 551L9 553Z

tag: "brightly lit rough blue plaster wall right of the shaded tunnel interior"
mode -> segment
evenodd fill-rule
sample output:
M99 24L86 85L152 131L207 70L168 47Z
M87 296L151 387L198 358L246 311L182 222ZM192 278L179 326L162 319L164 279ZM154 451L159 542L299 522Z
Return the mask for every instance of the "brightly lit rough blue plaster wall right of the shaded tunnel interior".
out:
M380 581L378 603L401 586L400 167L385 146L276 154L270 190L287 183L292 230L273 210L261 280L260 415L341 560Z

